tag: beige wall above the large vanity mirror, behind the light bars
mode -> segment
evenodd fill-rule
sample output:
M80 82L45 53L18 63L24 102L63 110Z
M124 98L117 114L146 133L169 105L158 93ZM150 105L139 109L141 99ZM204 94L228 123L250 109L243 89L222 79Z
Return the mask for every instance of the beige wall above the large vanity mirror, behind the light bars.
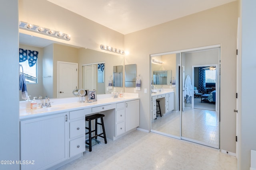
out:
M71 40L61 40L54 37L19 30L22 33L67 43L78 47L102 51L100 45L112 45L124 49L124 35L70 12L47 0L19 0L19 20L41 25L46 28L62 31L71 35Z

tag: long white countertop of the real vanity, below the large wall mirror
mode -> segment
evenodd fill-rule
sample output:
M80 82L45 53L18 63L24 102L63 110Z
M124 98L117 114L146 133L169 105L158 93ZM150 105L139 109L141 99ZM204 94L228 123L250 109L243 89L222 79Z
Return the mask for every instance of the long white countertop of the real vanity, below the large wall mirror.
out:
M139 99L138 94L124 93L122 98L113 98L111 94L97 95L98 100L94 102L80 102L81 97L52 99L50 100L52 107L31 109L31 102L20 102L20 120L50 115L54 113L73 111L78 109L92 108L97 106L105 106ZM83 100L85 100L83 98ZM42 100L44 101L44 100ZM40 103L40 100L36 100Z

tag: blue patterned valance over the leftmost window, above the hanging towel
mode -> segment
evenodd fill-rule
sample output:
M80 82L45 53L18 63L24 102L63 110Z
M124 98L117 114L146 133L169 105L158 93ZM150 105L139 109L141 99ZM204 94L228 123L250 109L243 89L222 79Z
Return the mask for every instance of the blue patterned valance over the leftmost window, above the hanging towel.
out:
M28 60L28 64L30 67L34 66L37 61L38 51L20 49L20 63Z

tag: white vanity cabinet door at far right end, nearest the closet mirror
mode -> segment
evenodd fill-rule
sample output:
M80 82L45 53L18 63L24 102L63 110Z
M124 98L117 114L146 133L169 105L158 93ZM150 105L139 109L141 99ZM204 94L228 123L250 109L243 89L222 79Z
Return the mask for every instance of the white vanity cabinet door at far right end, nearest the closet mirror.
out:
M140 102L132 100L125 102L125 131L130 131L140 125Z

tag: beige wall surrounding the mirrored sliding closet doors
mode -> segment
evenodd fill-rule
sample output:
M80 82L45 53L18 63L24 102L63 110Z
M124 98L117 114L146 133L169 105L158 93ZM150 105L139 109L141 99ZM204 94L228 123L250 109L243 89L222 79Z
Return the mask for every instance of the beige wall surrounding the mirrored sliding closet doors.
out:
M198 12L184 18L163 23L125 35L125 49L130 55L125 64L136 61L137 73L142 75L140 95L140 128L150 130L150 54L176 51L208 45L221 45L221 84L220 101L220 148L236 152L236 117L233 113L236 93L236 28L238 3ZM125 88L125 92L133 89Z

